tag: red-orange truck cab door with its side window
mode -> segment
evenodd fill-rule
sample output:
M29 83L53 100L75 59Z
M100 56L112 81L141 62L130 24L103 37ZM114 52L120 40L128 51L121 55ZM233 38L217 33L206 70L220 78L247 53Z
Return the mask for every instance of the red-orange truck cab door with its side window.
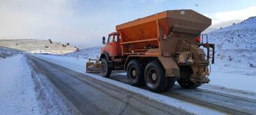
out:
M119 36L116 34L111 34L108 37L107 50L109 56L120 56L121 55L121 46Z

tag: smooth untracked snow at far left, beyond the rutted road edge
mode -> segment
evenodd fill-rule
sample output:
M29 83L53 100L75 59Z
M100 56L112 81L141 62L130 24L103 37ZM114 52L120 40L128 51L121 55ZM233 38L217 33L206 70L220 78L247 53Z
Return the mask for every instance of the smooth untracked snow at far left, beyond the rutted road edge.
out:
M22 55L0 60L0 114L40 114L30 71Z

